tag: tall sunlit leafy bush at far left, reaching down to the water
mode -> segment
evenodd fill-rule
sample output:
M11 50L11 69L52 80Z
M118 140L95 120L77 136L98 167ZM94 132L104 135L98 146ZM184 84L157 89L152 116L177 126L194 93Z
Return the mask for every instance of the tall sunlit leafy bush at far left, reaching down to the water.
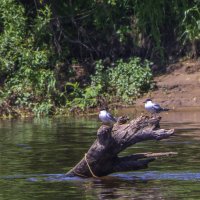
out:
M11 106L29 108L37 114L49 113L56 93L56 79L50 68L50 16L46 6L28 24L21 4L14 0L2 0L0 4L1 97Z

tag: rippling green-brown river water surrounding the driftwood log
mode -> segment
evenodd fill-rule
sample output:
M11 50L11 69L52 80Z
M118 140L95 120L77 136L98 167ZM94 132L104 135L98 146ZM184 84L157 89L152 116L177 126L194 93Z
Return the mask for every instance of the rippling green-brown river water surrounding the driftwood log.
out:
M122 110L130 117L135 109ZM100 126L88 118L12 119L0 121L0 200L200 199L200 110L163 113L161 128L175 136L133 145L121 155L178 152L145 170L101 179L65 178L87 152Z

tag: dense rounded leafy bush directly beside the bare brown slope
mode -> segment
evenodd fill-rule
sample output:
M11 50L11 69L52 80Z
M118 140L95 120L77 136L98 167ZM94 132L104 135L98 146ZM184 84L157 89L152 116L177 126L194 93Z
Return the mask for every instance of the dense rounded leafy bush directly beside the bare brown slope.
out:
M110 70L110 87L120 96L122 100L129 101L129 97L138 97L142 92L150 88L152 73L150 62L132 58L129 62L119 60L116 67Z

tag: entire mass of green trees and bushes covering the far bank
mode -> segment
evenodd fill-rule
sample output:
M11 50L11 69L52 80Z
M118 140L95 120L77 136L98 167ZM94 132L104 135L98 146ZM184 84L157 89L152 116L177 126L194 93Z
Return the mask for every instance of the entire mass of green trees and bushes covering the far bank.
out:
M151 62L197 58L200 3L2 0L0 27L0 114L48 115L133 103Z

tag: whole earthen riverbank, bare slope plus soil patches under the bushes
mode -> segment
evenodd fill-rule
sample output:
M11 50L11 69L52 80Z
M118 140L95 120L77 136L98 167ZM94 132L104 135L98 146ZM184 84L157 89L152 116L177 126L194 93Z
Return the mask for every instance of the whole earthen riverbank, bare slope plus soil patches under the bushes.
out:
M200 61L186 60L171 64L166 73L154 77L155 89L138 98L133 106L143 109L144 100L152 98L153 101L171 109L196 107L200 105ZM120 102L109 105L110 109L128 107ZM20 110L9 106L6 102L1 107L1 118L34 117L30 110ZM86 111L79 109L57 108L53 115L89 115L98 113L98 108Z

